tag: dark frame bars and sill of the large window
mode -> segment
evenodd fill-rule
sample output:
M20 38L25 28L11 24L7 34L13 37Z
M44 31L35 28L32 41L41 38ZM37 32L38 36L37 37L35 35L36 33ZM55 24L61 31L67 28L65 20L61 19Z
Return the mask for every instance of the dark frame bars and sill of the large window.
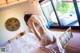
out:
M78 19L79 26L61 26L58 14L57 14L56 9L54 7L54 3L53 3L52 0L50 0L50 2L52 4L52 8L54 10L54 13L56 15L56 19L57 19L58 24L59 24L59 26L53 26L53 25L51 25L51 26L49 26L50 28L62 28L62 29L65 29L65 28L68 28L68 27L72 27L73 29L80 29L80 18L79 18L80 17L80 13L79 13L79 8L78 8L76 0L73 0L72 2L73 2L73 5L74 5L74 9L75 9L75 12L76 12L76 16L77 16L77 19ZM43 12L43 15L44 15L44 12Z

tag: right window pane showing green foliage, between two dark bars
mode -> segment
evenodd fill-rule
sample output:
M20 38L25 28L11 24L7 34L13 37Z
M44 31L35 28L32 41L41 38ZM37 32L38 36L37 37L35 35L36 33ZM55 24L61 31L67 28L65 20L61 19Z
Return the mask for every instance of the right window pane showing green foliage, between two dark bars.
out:
M56 9L61 26L79 26L73 0L52 0L52 1ZM78 4L80 5L80 3Z

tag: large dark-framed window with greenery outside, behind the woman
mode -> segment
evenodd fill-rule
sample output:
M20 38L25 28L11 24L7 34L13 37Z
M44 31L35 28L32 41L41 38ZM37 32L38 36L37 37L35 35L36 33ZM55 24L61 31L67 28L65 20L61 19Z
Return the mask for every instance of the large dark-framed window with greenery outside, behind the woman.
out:
M46 0L40 5L49 26L79 26L79 0Z

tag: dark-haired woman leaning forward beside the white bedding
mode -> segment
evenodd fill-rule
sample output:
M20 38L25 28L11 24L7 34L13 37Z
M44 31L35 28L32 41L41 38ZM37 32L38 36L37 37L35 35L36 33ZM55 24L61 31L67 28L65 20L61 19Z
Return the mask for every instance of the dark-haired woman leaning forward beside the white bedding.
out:
M35 34L35 36L40 41L42 47L51 45L47 48L55 50L56 53L60 53L59 47L57 45L57 40L50 30L48 30L43 24L40 18L33 14L25 14L24 20L30 30ZM52 48L51 48L52 47Z

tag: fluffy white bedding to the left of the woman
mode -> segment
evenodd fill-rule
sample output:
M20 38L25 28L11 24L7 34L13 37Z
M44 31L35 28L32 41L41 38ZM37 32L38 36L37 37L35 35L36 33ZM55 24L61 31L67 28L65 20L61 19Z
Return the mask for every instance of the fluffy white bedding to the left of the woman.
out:
M32 33L14 39L6 45L6 53L33 53L32 51L40 47L38 39Z

